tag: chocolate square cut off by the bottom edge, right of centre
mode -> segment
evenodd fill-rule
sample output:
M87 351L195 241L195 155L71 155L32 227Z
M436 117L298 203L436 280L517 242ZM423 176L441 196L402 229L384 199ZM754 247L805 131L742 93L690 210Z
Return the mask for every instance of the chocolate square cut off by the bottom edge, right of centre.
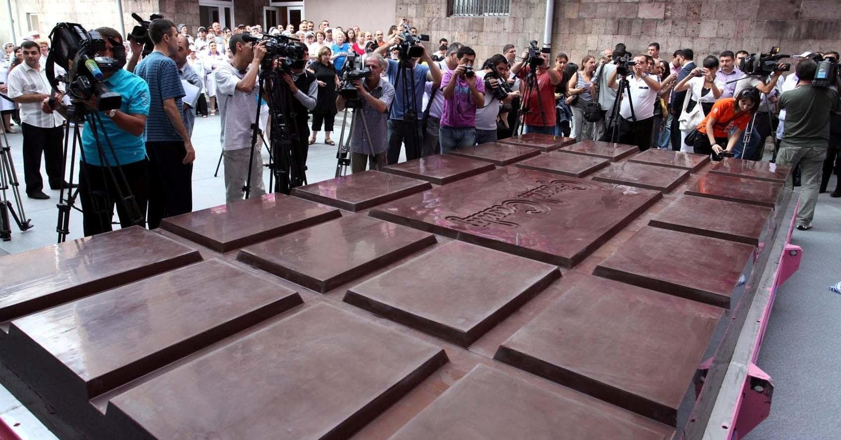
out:
M663 440L674 429L561 387L478 365L392 439Z

